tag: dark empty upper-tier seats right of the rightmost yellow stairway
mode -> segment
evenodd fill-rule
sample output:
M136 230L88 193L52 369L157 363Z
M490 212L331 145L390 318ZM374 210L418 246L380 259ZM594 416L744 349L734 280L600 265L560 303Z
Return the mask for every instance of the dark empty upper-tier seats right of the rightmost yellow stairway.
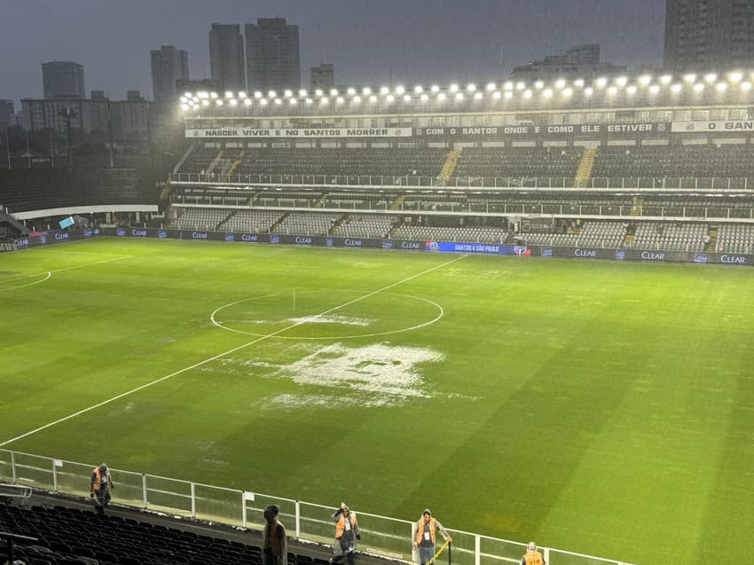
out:
M601 147L592 177L751 177L752 145Z

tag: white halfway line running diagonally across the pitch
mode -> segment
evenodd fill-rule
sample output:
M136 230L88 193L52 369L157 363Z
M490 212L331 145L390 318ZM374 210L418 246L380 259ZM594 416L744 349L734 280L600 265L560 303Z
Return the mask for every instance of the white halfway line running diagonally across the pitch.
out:
M346 306L350 306L351 304L355 304L356 302L365 300L366 298L369 298L370 296L373 296L374 294L379 294L381 292L384 292L386 290L389 290L390 288L393 288L394 286L402 285L405 282L408 282L409 280L417 279L421 277L422 275L426 275L429 272L436 271L437 269L442 269L446 265L450 265L452 263L455 263L456 261L460 261L461 259L466 258L467 255L460 255L459 257L456 257L455 259L452 259L451 261L448 261L446 263L441 263L439 265L435 265L431 269L427 269L426 271L421 271L420 273L417 273L415 275L412 275L411 277L406 277L403 280L399 280L395 283L392 283L388 286L383 286L382 288L378 288L377 290L372 291L371 293L365 294L364 296L360 296L359 298L354 298L353 300L349 302L345 302L344 304L341 304L340 306L334 306L333 308L329 310L325 310L324 312L319 313L317 316L326 316L327 314L334 312L335 310L341 310L342 308L345 308ZM316 317L315 317L316 318ZM59 418L58 420L51 421L47 424L44 424L44 426L40 426L39 428L32 429L31 431L26 432L25 434L21 434L20 436L12 437L11 439L5 440L3 443L0 443L0 447L4 447L5 445L8 445L10 443L14 443L19 441L20 439L23 439L24 437L33 436L35 434L38 434L39 432L51 428L52 426L56 426L58 424L61 424L67 420L71 420L75 418L76 416L81 416L82 414L86 412L90 412L92 410L95 410L101 406L104 406L106 404L110 404L111 402L114 402L116 400L120 400L121 398L125 396L130 396L139 390L143 390L144 388L152 387L153 385L156 385L159 382L167 381L168 379L175 377L181 373L185 373L186 371L191 371L192 369L195 369L196 367L200 367L201 365L207 365L208 363L212 361L216 361L217 359L220 359L222 357L225 357L226 355L230 355L231 353L235 353L236 351L240 351L241 349L246 349L250 345L254 345L255 343L259 343L260 341L264 341L266 339L269 339L271 337L274 337L275 335L282 334L283 332L287 332L287 330L293 329L297 326L301 326L304 324L304 321L296 322L295 324L292 324L291 326L286 326L283 328L280 328L277 332L272 332L271 334L263 335L262 337L259 337L252 341L247 341L247 343L243 343L239 345L238 347L234 347L233 349L228 349L227 351L224 351L223 353L218 353L217 355L213 357L208 357L204 359L203 361L200 361L198 363L194 363L193 365L189 365L187 367L184 367L183 369L179 369L178 371L174 373L170 373L165 375L164 377L161 377L159 379L156 379L151 382L147 382L141 386L138 386L137 388L132 388L126 392L123 392L120 395L113 396L112 398L108 398L107 400L103 400L102 402L98 404L92 404L88 408L83 408L82 410L79 410L78 412L74 412L72 414L68 414L67 416L64 416L63 418Z

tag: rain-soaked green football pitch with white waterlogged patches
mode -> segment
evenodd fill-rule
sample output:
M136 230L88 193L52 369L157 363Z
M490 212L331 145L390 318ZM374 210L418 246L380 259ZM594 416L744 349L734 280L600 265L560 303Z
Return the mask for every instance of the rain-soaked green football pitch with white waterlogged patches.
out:
M746 562L753 282L169 240L2 254L0 443L642 565Z

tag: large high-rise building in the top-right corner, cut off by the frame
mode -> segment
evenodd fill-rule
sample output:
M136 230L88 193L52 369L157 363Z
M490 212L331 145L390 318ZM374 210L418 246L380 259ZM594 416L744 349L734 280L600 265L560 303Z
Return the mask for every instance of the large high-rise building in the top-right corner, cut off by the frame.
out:
M754 0L665 0L664 67L675 72L754 67Z

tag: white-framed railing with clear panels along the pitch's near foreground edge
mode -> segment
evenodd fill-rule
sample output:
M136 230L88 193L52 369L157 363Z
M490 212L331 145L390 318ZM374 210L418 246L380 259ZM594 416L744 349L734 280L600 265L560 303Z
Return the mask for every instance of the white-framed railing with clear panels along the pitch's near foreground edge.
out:
M94 464L0 450L0 481L82 498L89 497L94 467ZM264 507L277 504L281 521L295 538L325 545L333 540L333 506L132 471L112 471L116 485L114 501L123 506L261 530ZM361 551L414 561L410 543L413 522L360 511L358 522L364 538L359 545ZM521 542L448 530L453 538L452 560L457 565L519 563L525 552L526 545ZM552 547L543 547L542 552L549 565L629 565Z

